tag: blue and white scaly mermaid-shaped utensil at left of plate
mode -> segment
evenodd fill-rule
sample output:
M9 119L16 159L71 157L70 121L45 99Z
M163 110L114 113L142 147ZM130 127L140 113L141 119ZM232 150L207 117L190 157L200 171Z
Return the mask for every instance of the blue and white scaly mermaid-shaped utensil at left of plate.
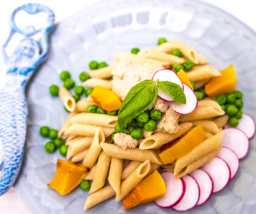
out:
M28 14L44 12L46 23L42 28L27 26L19 29L15 15L20 10ZM48 33L54 26L55 14L51 9L37 3L28 3L15 9L10 17L10 35L3 44L3 57L7 66L6 86L0 91L0 140L3 158L0 161L0 195L14 184L21 166L26 141L26 121L28 107L24 88L38 64L45 59L48 52ZM24 37L17 44L12 55L6 53L6 47L13 35ZM37 36L39 40L33 39ZM1 158L1 157L0 157Z

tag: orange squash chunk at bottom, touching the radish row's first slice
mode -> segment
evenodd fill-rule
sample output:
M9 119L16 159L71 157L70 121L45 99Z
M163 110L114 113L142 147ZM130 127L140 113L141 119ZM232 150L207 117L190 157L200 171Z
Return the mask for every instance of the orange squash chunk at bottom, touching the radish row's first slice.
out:
M151 175L143 179L126 197L122 200L125 209L128 210L139 204L145 204L158 200L165 195L166 188L163 177L154 171Z

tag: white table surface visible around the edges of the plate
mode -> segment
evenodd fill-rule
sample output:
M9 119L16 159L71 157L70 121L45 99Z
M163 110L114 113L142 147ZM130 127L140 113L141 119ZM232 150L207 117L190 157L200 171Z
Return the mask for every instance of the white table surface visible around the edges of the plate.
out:
M9 0L9 1L0 1L0 45L6 40L8 33L10 32L10 28L8 26L9 17L15 8L21 6L24 3L42 3L49 8L51 8L55 12L56 21L62 21L66 17L70 16L77 10L81 10L86 6L89 6L93 3L98 2L99 0L44 0L44 1L24 1L24 0ZM105 0L107 1L107 0ZM193 1L193 0L191 0ZM250 28L256 30L256 13L255 13L255 5L256 2L254 0L202 0L208 3L212 3L214 6L218 6L223 10L226 10L230 14L233 14L235 17L244 21ZM61 3L61 4L60 4ZM4 86L5 72L6 67L3 64L2 57L0 57L0 88ZM1 148L0 148L1 149ZM0 155L1 155L0 150ZM15 193L15 189L11 188L8 193L0 197L0 213L1 214L29 214L28 208L22 199L19 198L17 193Z

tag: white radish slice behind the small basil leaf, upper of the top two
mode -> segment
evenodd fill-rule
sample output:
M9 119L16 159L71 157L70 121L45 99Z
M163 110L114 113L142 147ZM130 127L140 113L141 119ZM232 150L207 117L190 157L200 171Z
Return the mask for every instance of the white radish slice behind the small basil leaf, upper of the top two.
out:
M162 70L156 71L152 77L152 80L155 81L158 79L159 81L170 81L170 82L173 82L174 84L178 84L184 90L181 79L179 79L178 75L173 70L162 69ZM169 94L167 94L165 91L161 90L160 88L158 89L158 97L163 99L164 101L174 101L174 99Z

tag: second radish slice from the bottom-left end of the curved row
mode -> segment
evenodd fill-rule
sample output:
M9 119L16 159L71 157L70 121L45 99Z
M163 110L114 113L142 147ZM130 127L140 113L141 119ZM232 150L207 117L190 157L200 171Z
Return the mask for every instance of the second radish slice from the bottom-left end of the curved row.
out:
M175 206L172 206L176 211L188 211L190 208L196 206L200 197L200 188L196 179L190 175L185 175L182 179L185 182L186 190L181 201Z

